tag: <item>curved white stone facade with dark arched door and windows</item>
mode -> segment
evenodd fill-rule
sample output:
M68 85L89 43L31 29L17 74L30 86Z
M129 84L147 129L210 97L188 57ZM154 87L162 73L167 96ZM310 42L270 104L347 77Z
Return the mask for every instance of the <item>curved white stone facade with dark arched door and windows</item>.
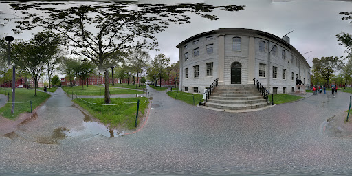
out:
M253 84L253 79L256 78L274 94L294 91L296 76L300 77L305 85L310 85L311 67L302 54L287 41L267 32L223 28L192 36L179 43L177 47L180 61L180 91L203 93L216 78L219 78L220 85L235 83L248 85ZM197 49L199 54L194 56L193 52ZM188 54L188 59L185 59L185 54ZM207 75L207 63L208 65L212 63L212 76L209 75L210 69ZM233 63L237 63L240 67L234 68ZM260 65L262 67L265 65L261 76ZM199 72L195 73L197 68ZM235 73L234 70L239 69L241 74ZM273 72L274 69L276 72ZM292 73L294 73L293 80Z

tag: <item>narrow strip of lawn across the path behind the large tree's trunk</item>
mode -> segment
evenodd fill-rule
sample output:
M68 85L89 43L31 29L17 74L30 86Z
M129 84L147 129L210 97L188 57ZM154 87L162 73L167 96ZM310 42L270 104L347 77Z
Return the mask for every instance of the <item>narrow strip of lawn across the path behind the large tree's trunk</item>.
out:
M82 86L63 86L63 91L65 91L67 94L72 94L72 91L74 91L74 94L81 95L83 91L83 96L103 96L105 94L105 87L100 87L100 86L94 86L94 85L89 85L88 87L85 86L82 89ZM110 88L110 94L143 94L143 91L138 91L138 90L129 90L129 89L119 89L119 88Z

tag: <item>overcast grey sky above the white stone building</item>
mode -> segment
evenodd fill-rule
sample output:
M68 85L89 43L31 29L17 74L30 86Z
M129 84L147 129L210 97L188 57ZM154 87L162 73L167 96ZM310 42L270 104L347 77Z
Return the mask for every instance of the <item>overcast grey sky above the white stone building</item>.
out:
M184 3L190 1L160 1L142 0L139 3ZM171 58L172 62L179 60L179 52L175 47L181 41L190 36L215 30L218 28L250 28L269 32L282 37L294 30L288 36L291 44L307 58L309 65L313 58L322 56L345 56L344 47L338 45L336 34L340 32L352 33L352 24L349 21L342 21L339 12L352 12L351 1L269 1L269 0L217 0L217 1L192 1L206 3L209 5L245 5L245 10L239 12L226 12L214 10L219 18L217 21L210 21L190 15L190 24L170 25L164 32L157 34L160 44L160 52L151 51L154 57L156 54L164 53ZM13 14L5 2L0 2L0 15L5 17ZM29 33L15 35L11 32L14 25L8 23L0 24L0 37L3 33L14 36L15 39L30 39Z

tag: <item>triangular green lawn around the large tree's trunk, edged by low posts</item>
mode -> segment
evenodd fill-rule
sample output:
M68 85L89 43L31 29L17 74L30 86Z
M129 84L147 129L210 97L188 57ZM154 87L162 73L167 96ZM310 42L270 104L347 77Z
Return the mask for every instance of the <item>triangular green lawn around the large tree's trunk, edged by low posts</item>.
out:
M148 98L111 98L111 104L122 104L123 102L137 102L140 99L139 115L144 114L144 109L148 107ZM87 102L85 102L85 101ZM111 127L123 126L128 129L135 128L135 115L137 112L137 103L123 104L115 106L99 105L104 104L104 98L76 98L74 102L89 111L91 115L98 118L100 122L109 124ZM96 104L90 104L96 103ZM143 104L144 103L144 104ZM138 124L139 124L138 120Z

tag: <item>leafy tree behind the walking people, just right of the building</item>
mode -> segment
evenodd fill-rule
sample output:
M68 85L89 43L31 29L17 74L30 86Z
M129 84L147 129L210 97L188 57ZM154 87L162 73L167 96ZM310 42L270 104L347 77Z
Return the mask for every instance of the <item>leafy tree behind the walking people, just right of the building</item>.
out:
M313 59L313 69L327 80L328 87L330 87L330 76L341 69L342 66L343 62L338 57L330 56Z

